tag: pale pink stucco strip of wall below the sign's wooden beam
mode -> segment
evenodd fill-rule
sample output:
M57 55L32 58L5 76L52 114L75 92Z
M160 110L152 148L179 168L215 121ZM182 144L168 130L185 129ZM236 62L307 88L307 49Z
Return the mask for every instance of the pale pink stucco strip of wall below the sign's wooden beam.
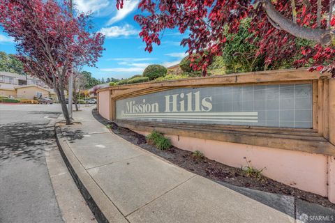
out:
M140 132L147 135L149 132ZM335 201L335 175L329 180L328 169L335 173L335 160L329 165L327 155L288 151L278 148L234 144L223 141L196 139L176 135L166 135L174 146L187 151L201 151L211 160L216 160L231 167L245 167L246 159L256 169L263 169L262 174L301 190L320 194ZM329 185L330 186L330 185ZM332 190L331 190L332 189Z

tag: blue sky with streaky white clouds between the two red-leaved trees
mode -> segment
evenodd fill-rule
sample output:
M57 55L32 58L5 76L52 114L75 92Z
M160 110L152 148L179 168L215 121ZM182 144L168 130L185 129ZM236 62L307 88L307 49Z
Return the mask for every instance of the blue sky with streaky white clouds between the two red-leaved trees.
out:
M186 48L180 41L178 29L166 30L161 45L154 45L154 51L144 52L145 44L138 36L140 26L133 20L139 0L125 1L124 8L117 10L115 0L73 0L78 11L91 13L96 31L105 34L105 52L99 59L98 68L87 68L98 79L125 78L142 74L149 64L172 66L185 56ZM0 28L0 51L15 53L15 43Z

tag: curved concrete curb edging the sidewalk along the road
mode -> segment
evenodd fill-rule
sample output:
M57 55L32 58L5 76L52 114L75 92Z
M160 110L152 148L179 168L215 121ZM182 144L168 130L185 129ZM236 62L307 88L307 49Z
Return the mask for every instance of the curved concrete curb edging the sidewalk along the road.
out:
M107 195L96 184L93 178L87 173L82 164L71 150L70 146L63 139L59 123L54 125L54 133L61 156L63 157L68 171L75 184L80 190L97 222L128 222L124 215L119 212L116 206L108 199Z

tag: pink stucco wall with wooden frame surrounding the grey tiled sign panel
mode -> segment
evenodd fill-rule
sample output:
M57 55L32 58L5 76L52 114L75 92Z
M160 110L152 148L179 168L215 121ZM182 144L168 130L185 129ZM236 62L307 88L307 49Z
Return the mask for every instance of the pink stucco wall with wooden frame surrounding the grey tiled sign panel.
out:
M117 118L117 102L169 89L248 84L312 84L313 123L308 129L207 126L192 123L136 121ZM335 203L335 79L329 74L300 70L274 70L244 74L179 79L112 86L98 91L99 113L140 134L157 130L172 144L231 167L250 160L262 174L301 190L328 197ZM213 129L211 129L213 128Z

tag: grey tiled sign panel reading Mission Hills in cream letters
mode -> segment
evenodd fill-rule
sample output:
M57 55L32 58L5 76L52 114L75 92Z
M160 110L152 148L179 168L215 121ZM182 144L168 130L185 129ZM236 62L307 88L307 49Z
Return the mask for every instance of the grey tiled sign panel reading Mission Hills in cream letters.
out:
M117 100L116 118L311 128L311 84L182 88Z

